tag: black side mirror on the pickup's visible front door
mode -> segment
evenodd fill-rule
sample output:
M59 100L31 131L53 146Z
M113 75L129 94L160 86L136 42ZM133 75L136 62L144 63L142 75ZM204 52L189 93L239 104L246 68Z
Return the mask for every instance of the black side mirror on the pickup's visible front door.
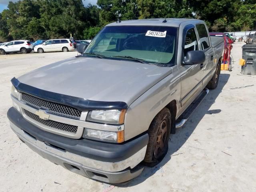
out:
M182 65L197 65L205 61L205 54L203 51L189 51Z

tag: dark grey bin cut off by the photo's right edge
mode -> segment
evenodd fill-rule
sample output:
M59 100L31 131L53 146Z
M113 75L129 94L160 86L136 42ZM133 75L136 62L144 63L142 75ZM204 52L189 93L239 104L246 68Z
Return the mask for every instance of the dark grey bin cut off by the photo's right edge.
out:
M242 58L246 62L241 67L241 74L256 75L256 45L244 45L242 49Z

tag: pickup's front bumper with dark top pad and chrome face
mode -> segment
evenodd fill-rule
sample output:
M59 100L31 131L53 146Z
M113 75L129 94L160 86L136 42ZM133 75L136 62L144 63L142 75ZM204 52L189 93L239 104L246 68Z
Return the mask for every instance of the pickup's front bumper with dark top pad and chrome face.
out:
M148 134L124 144L70 139L40 130L15 109L7 116L14 133L34 152L64 168L107 183L122 183L141 174Z

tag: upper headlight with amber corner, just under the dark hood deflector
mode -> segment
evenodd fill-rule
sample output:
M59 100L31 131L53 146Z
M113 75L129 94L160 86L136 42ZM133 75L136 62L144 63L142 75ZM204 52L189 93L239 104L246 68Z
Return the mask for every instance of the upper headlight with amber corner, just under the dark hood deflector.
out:
M90 111L87 116L87 121L108 123L108 124L123 124L126 109L123 110L95 110Z

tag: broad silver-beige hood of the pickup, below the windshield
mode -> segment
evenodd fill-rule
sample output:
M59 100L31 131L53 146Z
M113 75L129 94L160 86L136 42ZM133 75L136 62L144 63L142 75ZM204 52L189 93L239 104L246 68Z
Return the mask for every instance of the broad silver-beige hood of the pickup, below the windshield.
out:
M50 92L94 101L122 101L129 106L171 73L170 67L78 57L38 68L18 80Z

